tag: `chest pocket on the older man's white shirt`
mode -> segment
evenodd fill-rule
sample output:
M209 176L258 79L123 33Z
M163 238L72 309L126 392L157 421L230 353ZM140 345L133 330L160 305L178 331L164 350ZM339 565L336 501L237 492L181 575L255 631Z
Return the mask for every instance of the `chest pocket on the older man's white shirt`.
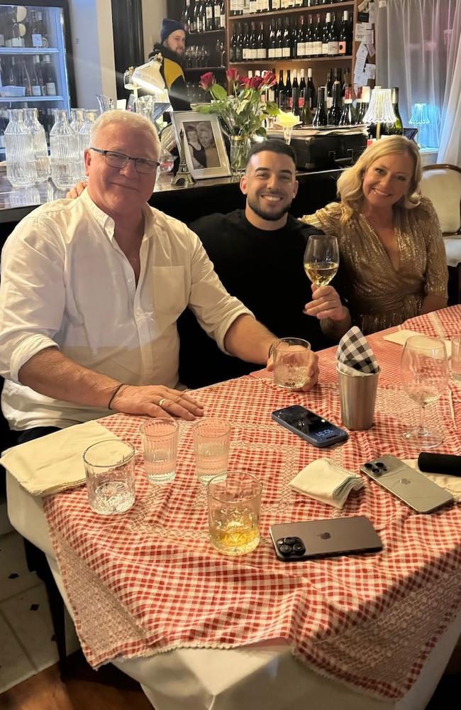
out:
M161 313L176 319L189 302L184 266L154 266L151 277L153 303L146 303L146 310L152 310L154 316Z

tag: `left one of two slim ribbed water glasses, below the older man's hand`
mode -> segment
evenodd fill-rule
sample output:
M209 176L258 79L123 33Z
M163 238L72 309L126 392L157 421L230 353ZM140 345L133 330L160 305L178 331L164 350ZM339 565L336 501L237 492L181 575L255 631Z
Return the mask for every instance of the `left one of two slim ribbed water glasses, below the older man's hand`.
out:
M178 423L174 419L151 419L140 427L144 469L148 481L166 484L176 475Z

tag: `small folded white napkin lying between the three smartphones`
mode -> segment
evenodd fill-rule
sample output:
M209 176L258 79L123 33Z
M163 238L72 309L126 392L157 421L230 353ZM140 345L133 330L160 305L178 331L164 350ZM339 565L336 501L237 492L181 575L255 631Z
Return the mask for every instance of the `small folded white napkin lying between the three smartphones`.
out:
M329 459L312 461L289 482L298 493L339 509L343 508L350 491L360 491L363 485L361 476L351 474Z

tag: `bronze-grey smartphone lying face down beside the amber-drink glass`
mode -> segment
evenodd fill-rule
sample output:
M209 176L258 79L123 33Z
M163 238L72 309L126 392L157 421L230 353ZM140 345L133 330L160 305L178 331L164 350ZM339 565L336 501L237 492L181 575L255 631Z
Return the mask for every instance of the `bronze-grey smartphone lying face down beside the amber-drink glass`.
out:
M379 552L382 541L365 515L270 526L272 544L283 562Z

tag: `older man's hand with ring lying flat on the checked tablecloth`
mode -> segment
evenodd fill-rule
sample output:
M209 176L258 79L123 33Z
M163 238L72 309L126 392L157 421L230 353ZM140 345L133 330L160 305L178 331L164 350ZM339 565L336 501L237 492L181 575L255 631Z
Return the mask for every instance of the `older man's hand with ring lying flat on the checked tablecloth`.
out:
M123 385L111 400L111 409L150 417L179 417L193 421L204 415L203 406L187 393L162 385Z

